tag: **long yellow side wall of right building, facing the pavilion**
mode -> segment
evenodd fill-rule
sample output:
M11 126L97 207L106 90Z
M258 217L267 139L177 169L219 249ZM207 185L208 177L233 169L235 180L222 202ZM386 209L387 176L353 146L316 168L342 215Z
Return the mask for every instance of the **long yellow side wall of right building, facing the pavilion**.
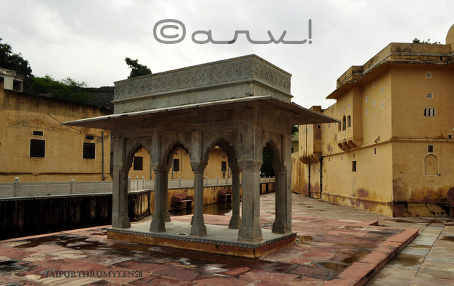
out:
M345 130L342 130L341 126L339 131L340 123L321 125L322 198L338 204L392 215L392 207L389 205L389 202L392 202L392 145L389 142L384 143L391 136L389 72L375 75L374 79L344 89L336 104L323 111L323 114L341 121L343 116L345 119L350 116L350 127L347 125ZM367 102L365 97L368 99ZM311 136L306 140L304 133L306 128L301 127L300 155L304 156L305 142L309 153L309 150L313 149L311 145L314 144L314 140L309 138ZM379 136L380 139L375 143ZM343 151L338 147L338 142L345 140L353 140L360 147ZM353 172L353 161L357 164L356 172ZM302 164L299 170L301 193L310 194L312 197L320 196L319 170L320 163L311 163L310 166Z

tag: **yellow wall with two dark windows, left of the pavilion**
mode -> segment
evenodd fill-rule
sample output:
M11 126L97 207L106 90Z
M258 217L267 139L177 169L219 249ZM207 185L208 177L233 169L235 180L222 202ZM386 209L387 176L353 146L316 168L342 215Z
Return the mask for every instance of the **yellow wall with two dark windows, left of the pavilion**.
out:
M61 123L106 115L107 109L5 90L0 82L0 182L15 177L21 182L102 180L102 130ZM33 131L43 131L43 136L33 136ZM45 158L30 158L32 138L45 140ZM96 143L95 159L82 158L84 142ZM104 131L104 170L111 180L109 131Z

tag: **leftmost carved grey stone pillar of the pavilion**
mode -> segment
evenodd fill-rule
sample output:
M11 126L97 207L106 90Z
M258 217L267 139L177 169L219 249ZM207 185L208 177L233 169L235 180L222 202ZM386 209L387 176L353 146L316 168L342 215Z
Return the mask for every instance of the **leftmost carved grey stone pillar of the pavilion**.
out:
M128 228L128 180L123 170L124 138L114 137L114 174L112 189L112 226Z

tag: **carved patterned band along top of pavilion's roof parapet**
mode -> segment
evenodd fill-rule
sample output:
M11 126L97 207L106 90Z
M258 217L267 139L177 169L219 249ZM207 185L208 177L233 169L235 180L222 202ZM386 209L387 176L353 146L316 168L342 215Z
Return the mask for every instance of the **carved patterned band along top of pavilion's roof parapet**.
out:
M290 93L289 75L258 58L244 57L117 82L115 99L253 78Z

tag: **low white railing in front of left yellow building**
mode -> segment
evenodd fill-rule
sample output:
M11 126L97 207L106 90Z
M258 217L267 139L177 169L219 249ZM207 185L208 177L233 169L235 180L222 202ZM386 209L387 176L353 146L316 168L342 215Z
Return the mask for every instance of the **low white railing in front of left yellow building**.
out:
M275 182L275 177L262 177L261 182ZM231 178L209 179L205 177L204 187L232 185ZM168 181L169 189L192 188L194 179L182 179ZM137 192L143 189L155 189L155 180L145 180L144 177L131 180L128 177L128 192ZM94 181L94 182L20 182L16 177L14 182L0 183L1 197L35 197L35 196L52 196L62 194L96 194L111 193L112 181Z

